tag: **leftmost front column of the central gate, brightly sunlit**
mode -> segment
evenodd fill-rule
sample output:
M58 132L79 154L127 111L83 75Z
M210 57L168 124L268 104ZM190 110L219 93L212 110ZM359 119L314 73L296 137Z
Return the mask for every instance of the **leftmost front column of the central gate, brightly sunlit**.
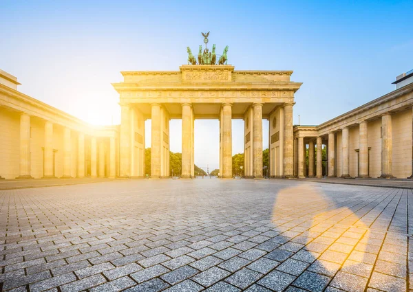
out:
M131 137L129 104L120 104L120 170L119 177L129 177L131 170Z

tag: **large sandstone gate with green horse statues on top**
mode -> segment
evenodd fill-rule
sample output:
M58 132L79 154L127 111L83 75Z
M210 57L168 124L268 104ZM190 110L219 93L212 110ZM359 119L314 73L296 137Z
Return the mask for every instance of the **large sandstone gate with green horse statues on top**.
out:
M182 176L194 177L194 120L220 120L220 177L232 174L232 119L244 120L244 175L262 177L262 119L270 121L271 177L293 177L293 71L237 71L189 51L178 71L122 71L120 177L145 177L145 120L151 119L151 177L169 177L169 120L182 119ZM205 58L205 54L207 57ZM213 45L215 54L215 45ZM224 56L225 60L222 60ZM202 135L202 133L201 133Z

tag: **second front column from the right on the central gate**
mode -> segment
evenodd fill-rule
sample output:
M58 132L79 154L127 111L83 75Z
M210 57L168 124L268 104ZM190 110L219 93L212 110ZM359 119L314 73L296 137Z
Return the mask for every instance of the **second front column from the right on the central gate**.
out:
M262 104L253 104L253 117L253 176L260 179L262 178Z

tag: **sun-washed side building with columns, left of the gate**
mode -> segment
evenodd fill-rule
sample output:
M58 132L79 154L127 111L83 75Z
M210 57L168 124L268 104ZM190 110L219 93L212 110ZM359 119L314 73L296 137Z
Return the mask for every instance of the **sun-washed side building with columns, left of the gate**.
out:
M19 92L0 70L0 178L116 177L118 126L92 126Z

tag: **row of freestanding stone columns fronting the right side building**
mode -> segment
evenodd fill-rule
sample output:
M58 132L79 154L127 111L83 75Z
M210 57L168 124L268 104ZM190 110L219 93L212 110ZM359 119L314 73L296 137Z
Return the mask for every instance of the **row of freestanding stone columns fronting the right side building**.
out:
M357 177L369 177L369 157L368 157L368 122L363 120L358 123L359 126L359 168ZM341 148L336 148L336 134L341 131ZM349 127L344 126L339 131L332 131L324 134L327 138L327 175L328 177L337 177L337 167L341 169L341 178L350 178L350 135ZM297 177L305 177L306 172L306 144L304 139L308 139L308 177L322 177L322 157L321 148L323 137L298 137L297 138ZM317 144L317 167L314 173L314 141ZM320 149L320 150L319 150ZM341 151L341 164L337 165L336 150ZM304 155L303 155L304 154ZM392 175L392 115L384 113L381 115L381 176L379 178L394 178Z

